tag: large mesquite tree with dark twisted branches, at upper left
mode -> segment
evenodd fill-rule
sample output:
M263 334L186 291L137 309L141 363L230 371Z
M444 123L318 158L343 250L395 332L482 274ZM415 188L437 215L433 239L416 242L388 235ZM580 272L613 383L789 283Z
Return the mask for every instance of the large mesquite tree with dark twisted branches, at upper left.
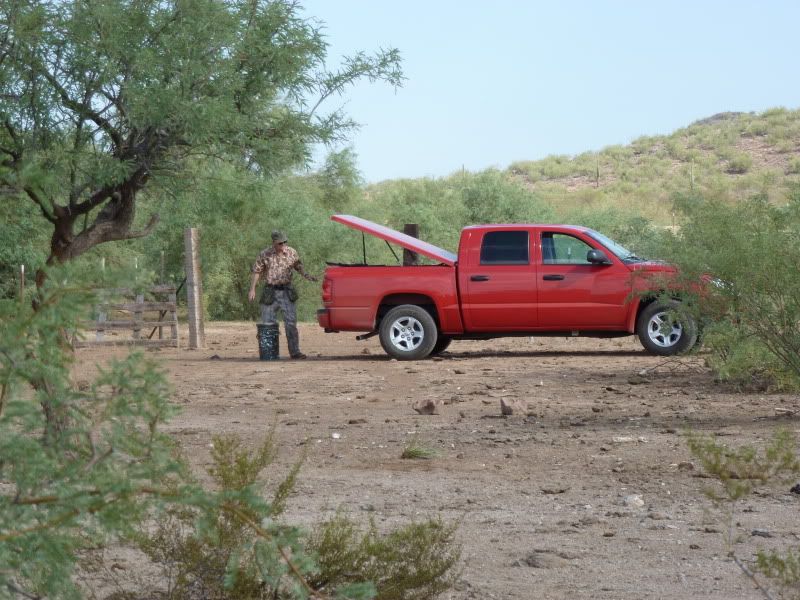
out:
M145 236L137 196L193 155L285 170L354 127L327 99L402 82L397 50L326 54L291 0L0 0L0 194L51 224L48 264Z

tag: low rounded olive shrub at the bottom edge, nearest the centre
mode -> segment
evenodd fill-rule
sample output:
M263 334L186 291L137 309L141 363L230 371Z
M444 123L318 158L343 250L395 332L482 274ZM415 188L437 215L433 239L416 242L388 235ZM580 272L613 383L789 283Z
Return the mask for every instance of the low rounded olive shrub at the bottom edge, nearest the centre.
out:
M338 514L310 538L320 565L311 583L335 588L355 577L374 583L377 600L432 600L459 575L455 532L456 525L432 519L381 534L374 522L362 531Z

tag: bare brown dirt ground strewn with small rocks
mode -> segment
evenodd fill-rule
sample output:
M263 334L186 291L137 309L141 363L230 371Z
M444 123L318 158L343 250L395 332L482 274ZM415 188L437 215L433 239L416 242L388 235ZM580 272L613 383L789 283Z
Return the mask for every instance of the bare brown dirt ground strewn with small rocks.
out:
M398 362L377 338L310 323L300 334L305 361L259 361L252 323L207 326L205 350L148 351L182 407L168 430L198 473L212 435L255 444L277 421L273 479L310 446L289 520L344 509L386 527L461 522L463 575L444 598L762 597L727 558L684 433L738 445L798 432L798 396L737 392L702 355L652 357L634 338L454 342ZM88 368L122 352L78 358ZM527 416L502 416L501 398L527 402ZM439 414L412 409L427 399ZM435 457L402 459L412 440ZM737 555L796 545L798 507L788 487L748 499Z

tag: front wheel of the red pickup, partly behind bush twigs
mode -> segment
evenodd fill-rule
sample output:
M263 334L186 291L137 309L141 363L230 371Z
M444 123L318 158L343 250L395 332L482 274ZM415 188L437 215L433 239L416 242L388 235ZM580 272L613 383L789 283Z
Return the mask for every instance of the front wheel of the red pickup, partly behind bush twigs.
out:
M676 300L648 304L636 322L636 334L644 349L658 356L674 356L691 350L697 342L697 322Z

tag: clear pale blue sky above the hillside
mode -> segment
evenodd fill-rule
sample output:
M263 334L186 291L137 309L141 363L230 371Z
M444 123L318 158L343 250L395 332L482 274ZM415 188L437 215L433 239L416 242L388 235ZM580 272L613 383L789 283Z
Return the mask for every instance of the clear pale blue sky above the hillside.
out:
M396 47L408 80L333 99L368 182L579 154L723 111L800 107L800 0L301 0L330 66Z

